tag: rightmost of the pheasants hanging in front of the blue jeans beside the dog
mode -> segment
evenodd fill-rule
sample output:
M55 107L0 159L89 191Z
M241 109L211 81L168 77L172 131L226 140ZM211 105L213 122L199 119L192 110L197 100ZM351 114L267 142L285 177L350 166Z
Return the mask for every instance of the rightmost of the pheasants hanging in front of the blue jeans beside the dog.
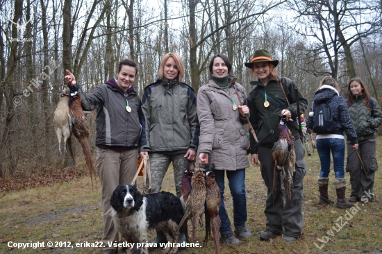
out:
M213 229L213 241L215 242L215 253L220 253L219 228L220 228L220 190L215 181L215 173L206 172L206 238L204 244L211 239L211 228Z

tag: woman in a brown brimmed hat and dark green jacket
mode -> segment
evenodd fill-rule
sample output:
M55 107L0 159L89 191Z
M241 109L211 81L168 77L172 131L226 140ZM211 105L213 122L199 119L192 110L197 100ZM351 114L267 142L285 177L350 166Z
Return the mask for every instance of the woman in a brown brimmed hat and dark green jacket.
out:
M274 199L272 198L272 185L274 178L274 164L271 158L271 151L279 139L278 124L280 115L285 115L290 119L296 119L297 113L297 85L289 78L279 78L276 75L275 67L279 60L272 60L268 51L260 49L255 51L255 56L251 62L245 66L252 70L252 75L257 76L258 81L252 81L251 85L256 85L248 96L248 107L250 121L258 139L262 139L271 130L274 133L265 139L257 149L251 151L251 162L255 167L259 167L261 162L261 176L267 185L267 201L265 204L265 216L267 217L267 228L260 234L260 240L266 241L281 235L285 228L283 241L295 242L301 237L304 226L302 216L303 203L303 178L306 174L304 161L304 146L299 135L297 121L287 121L288 128L294 136L294 149L296 152L296 171L293 174L294 187L291 188L292 199L285 198L283 203L283 193L280 184L277 185ZM301 112L308 106L308 101L301 92L298 92ZM288 98L288 100L287 100ZM250 137L251 147L256 144L254 137Z

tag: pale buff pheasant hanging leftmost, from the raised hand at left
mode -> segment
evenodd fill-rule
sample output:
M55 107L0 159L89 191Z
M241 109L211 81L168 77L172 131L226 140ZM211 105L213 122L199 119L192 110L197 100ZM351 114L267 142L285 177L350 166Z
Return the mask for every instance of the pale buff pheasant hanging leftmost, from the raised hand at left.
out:
M63 92L60 94L60 101L58 102L57 108L53 115L53 127L56 131L58 139L58 153L61 153L61 142L64 137L64 153L66 154L66 145L68 146L69 153L74 160L74 154L72 150L72 141L70 136L72 135L72 117L69 113L69 87L65 87Z

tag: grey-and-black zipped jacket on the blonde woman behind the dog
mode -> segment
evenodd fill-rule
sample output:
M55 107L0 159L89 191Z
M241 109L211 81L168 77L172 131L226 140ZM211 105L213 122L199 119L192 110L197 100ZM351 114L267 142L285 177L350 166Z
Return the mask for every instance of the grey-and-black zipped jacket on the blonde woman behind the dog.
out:
M197 151L197 97L185 83L158 79L144 88L140 151Z

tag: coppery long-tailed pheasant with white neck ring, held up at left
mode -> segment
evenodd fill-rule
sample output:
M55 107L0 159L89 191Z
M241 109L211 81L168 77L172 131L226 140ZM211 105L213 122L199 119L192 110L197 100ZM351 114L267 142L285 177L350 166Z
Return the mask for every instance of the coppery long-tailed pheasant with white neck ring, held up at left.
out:
M85 161L86 165L89 168L90 171L90 179L92 180L92 186L93 186L93 178L97 181L97 178L95 178L95 170L94 170L94 164L92 160L92 152L90 151L90 144L89 144L89 129L85 125L85 115L83 115L83 110L81 107L81 96L77 91L77 87L75 85L72 85L72 82L67 83L67 86L70 89L69 94L69 112L72 115L73 119L73 134L80 142L83 153L85 155Z

